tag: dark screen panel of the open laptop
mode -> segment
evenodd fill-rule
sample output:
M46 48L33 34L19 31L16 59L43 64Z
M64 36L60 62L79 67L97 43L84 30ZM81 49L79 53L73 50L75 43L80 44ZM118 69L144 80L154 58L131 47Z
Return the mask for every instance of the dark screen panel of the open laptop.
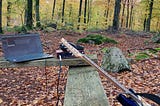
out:
M3 36L2 48L5 57L43 53L39 34Z

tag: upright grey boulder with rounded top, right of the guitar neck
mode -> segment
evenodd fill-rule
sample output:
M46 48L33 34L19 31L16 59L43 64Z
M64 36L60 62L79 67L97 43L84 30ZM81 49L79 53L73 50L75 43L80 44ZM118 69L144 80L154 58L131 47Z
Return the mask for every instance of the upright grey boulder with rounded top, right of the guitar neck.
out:
M130 70L130 66L119 48L109 48L103 56L102 67L106 71L121 72Z

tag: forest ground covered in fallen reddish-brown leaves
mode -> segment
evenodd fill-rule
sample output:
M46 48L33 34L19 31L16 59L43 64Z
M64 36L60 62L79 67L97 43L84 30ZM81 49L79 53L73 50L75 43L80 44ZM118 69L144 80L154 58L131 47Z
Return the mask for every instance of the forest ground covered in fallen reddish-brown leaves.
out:
M59 49L62 37L76 43L79 38L89 33L99 33L115 39L118 44L104 43L101 45L82 44L86 54L97 54L99 63L102 61L104 47L118 47L124 55L145 51L149 48L160 47L150 41L152 34L146 33L116 33L106 31L77 33L72 31L54 31L50 33L39 32L44 51L53 54ZM2 52L1 54L2 55ZM133 57L134 59L134 57ZM127 88L136 92L153 93L160 95L160 52L149 59L131 63L132 71L122 73L109 73ZM56 106L57 78L59 67L24 67L0 69L0 106ZM60 101L63 105L68 67L62 67L60 79ZM100 75L110 106L121 106L117 94L121 93L111 82ZM153 106L155 106L153 104Z

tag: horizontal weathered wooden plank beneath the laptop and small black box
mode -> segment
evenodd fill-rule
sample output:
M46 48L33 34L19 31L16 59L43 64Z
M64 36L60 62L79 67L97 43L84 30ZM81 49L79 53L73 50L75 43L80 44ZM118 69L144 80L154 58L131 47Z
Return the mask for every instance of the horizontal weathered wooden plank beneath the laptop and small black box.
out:
M96 55L88 55L88 57L91 58L93 61L97 61ZM6 61L3 57L0 57L0 68L29 67L29 66L44 67L44 66L58 66L58 65L59 65L59 59L57 58L33 60L23 63L11 63L9 61ZM72 59L62 59L62 65L85 66L88 65L88 63L80 58L72 58Z

